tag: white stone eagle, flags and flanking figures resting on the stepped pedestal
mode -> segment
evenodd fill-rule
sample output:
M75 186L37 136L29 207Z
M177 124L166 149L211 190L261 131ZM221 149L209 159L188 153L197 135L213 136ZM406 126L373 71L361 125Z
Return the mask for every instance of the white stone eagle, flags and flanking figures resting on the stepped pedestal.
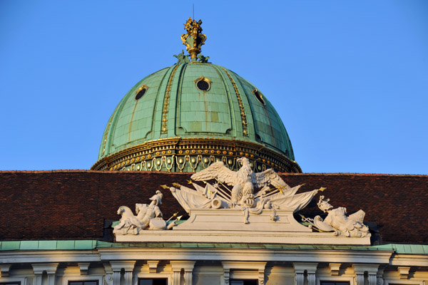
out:
M253 172L250 161L246 157L239 158L238 162L242 162L242 167L236 172L220 161L190 177L192 180L203 181L205 187L191 180L189 184L193 185L194 189L177 183L173 183L173 187L166 185L162 187L169 189L188 213L192 210L239 209L243 212L244 224L249 223L250 214L260 217L265 210L271 212L268 216L269 220L265 221L267 223L275 222L280 218L277 212L289 213L285 220L294 219L292 213L306 207L318 191L325 190L321 187L296 194L302 185L288 186L272 169L259 173ZM215 180L215 182L209 183L209 180ZM172 229L177 219L168 225L167 222L170 219L168 221L162 219L162 212L158 207L162 197L162 193L156 191L156 195L151 197L151 204L136 204L137 215L134 215L126 206L119 207L118 214L121 214L121 219L119 224L113 227L113 233L139 234L144 229ZM330 199L324 199L324 196L321 196L318 202L318 207L328 213L325 219L320 216L314 219L303 217L302 221L308 222L310 229L316 229L318 232L332 232L336 236L343 237L370 237L369 229L362 224L365 212L360 210L348 217L345 207L332 209L329 201Z

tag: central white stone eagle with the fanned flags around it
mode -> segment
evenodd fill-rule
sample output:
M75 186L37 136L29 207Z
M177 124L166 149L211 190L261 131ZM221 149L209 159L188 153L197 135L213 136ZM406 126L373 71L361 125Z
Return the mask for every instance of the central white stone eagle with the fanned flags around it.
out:
M302 185L288 186L272 169L253 172L246 157L238 158L242 162L240 170L233 171L223 162L215 162L205 170L190 178L205 182L205 187L191 182L195 189L183 185L173 185L170 191L186 212L190 209L242 209L244 223L248 223L249 214L260 214L270 209L270 219L275 221L278 209L297 212L306 207L319 190L295 194ZM210 184L208 180L216 180ZM270 188L270 185L273 188ZM230 188L231 187L231 188ZM260 189L255 193L256 189Z

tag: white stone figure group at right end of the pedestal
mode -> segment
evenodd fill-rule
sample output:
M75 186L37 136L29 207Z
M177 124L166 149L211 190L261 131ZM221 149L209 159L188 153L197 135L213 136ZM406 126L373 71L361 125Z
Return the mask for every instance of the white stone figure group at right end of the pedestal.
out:
M309 222L320 232L333 232L337 236L370 237L369 228L362 223L365 216L362 209L347 216L345 207L332 209L333 206L329 201L330 199L325 200L324 196L321 196L318 202L318 207L322 212L328 213L324 220L320 216L316 216L314 219L304 217L303 222Z

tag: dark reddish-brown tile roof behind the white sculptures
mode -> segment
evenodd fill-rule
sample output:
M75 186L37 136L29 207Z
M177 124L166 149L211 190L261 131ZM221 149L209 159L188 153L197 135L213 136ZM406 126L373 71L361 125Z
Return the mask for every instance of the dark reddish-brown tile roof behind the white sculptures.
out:
M344 173L282 173L300 192L322 192L334 207L366 212L384 243L428 244L428 176ZM0 240L102 239L105 219L119 219L119 206L148 203L160 185L185 185L190 174L177 172L101 172L92 170L0 172ZM185 214L162 190L164 217ZM300 213L324 214L318 196ZM296 219L298 219L296 215Z

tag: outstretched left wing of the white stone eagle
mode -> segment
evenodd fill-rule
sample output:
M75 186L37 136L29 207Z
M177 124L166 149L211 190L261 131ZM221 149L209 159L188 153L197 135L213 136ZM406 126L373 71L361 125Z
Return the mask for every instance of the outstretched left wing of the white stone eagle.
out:
M201 181L201 180L210 180L217 179L227 185L234 185L236 183L236 172L230 170L222 161L218 161L208 166L200 172L196 172L194 175L190 176L192 180Z

